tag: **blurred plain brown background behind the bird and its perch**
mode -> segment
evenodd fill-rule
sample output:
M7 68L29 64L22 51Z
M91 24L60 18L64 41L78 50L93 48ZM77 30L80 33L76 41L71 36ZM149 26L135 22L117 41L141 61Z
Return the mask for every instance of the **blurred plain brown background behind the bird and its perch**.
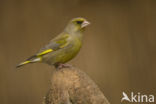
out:
M111 104L121 103L123 91L156 95L155 0L1 0L1 104L41 104L54 68L15 66L74 17L91 25L70 64L86 72Z

